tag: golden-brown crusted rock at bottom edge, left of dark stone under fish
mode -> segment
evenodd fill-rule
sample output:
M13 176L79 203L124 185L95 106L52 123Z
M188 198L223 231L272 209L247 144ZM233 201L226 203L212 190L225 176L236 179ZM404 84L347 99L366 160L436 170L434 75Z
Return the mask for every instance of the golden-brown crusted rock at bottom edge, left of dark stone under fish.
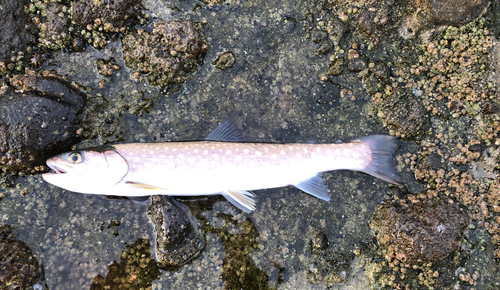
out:
M113 261L108 266L106 277L95 276L90 289L151 289L151 285L161 273L155 260L151 258L150 248L146 239L139 239L132 245L126 245L120 262Z

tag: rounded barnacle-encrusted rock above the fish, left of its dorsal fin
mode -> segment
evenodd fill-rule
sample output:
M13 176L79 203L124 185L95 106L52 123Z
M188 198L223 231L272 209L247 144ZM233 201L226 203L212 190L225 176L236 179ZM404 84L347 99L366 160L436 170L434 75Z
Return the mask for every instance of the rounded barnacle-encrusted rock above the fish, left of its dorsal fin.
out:
M146 74L151 85L168 86L184 82L197 69L208 45L191 21L170 21L124 36L122 47L128 67Z

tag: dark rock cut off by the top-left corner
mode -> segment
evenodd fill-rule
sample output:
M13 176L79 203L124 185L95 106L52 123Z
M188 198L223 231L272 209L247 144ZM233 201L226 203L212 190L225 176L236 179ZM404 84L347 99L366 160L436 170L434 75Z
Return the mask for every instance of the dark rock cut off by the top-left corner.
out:
M26 31L23 9L28 0L3 0L0 4L0 73L14 68L19 52L23 52L30 36ZM10 67L9 67L10 64Z

